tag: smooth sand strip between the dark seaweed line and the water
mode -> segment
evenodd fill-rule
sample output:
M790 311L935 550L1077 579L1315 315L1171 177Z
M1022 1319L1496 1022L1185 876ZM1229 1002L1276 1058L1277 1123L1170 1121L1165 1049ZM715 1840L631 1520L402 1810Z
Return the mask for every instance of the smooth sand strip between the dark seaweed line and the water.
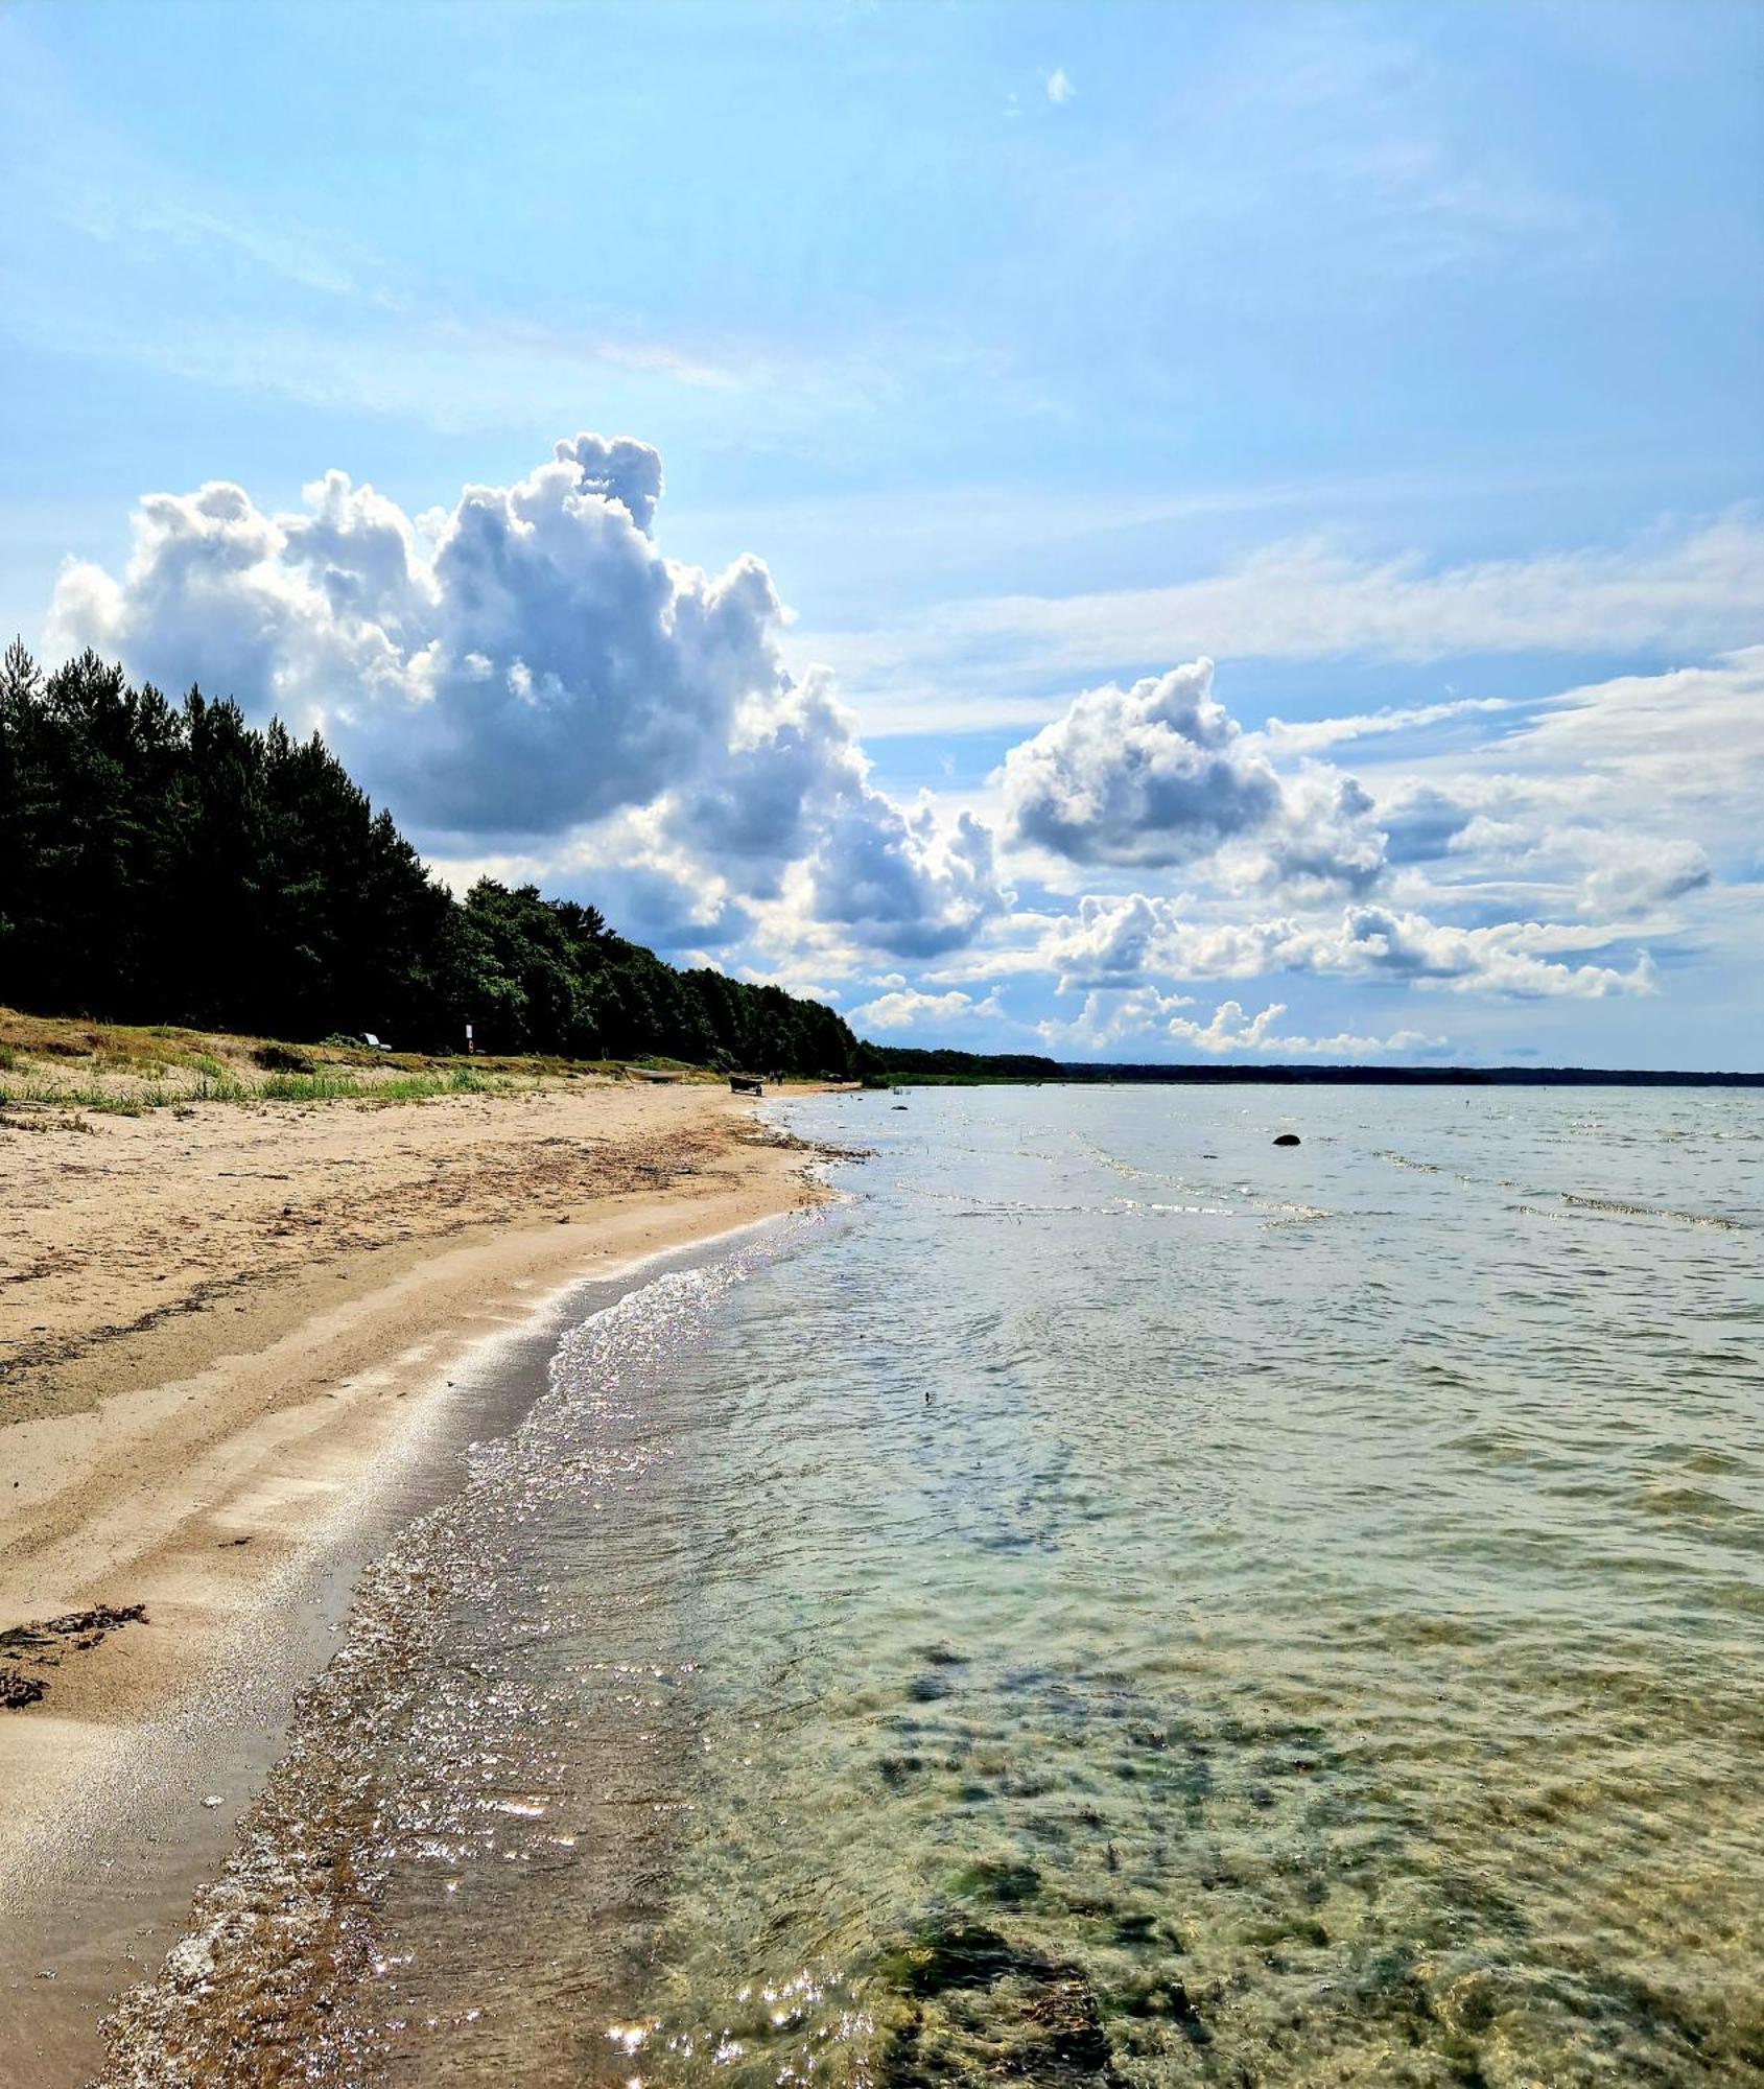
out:
M813 1149L755 1136L750 1107L715 1090L556 1109L614 1151L621 1128L683 1134L694 1159L575 1195L564 1224L541 1207L238 1272L234 1312L98 1333L38 1387L48 1412L0 1427L0 1632L144 1606L48 1659L0 1661L46 1686L0 1711L0 1993L17 2026L0 2083L94 2070L98 2016L224 1857L359 1571L458 1489L472 1439L518 1423L571 1312L823 1195ZM445 1120L426 1132L445 1141ZM546 1157L564 1143L554 1122L525 1113ZM376 1113L364 1139L385 1130ZM424 1143L412 1120L395 1130Z

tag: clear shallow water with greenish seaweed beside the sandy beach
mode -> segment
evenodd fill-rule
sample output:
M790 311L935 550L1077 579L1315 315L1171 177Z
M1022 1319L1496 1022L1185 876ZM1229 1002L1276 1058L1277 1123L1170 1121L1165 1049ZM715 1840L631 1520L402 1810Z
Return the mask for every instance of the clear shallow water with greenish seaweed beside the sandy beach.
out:
M180 2035L303 1853L347 2079L1756 2079L1764 1099L892 1101L387 1563Z

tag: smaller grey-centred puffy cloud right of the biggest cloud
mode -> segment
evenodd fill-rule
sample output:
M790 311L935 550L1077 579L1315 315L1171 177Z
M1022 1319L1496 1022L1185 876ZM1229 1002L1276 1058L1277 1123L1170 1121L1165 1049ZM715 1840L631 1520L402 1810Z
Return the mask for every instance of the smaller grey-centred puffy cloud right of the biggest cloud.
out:
M1012 840L1072 863L1221 854L1233 882L1315 892L1361 892L1384 869L1367 792L1319 762L1279 775L1212 694L1210 660L1085 689L1005 754L999 783Z

